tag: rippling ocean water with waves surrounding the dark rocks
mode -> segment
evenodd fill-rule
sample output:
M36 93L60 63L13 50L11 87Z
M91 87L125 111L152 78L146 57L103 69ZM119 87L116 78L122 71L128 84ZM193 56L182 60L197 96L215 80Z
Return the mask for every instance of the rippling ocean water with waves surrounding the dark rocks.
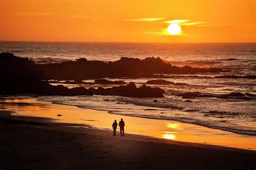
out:
M255 79L210 79L220 75L256 75L255 43L125 43L125 42L5 42L2 52L28 57L35 63L50 63L86 58L116 61L122 57L144 59L160 57L175 66L218 67L230 72L203 74L170 74L167 81L189 86L157 85L165 90L164 98L132 98L119 96L41 96L40 100L80 108L106 110L110 114L152 119L175 120L208 128L256 135L255 100L199 97L184 102L178 93L228 94L232 92L256 95ZM113 79L135 82L142 86L152 79ZM94 80L84 80L93 82ZM53 84L56 85L56 84ZM89 85L63 84L69 88ZM98 87L97 85L92 85ZM151 86L151 85L150 85ZM105 85L103 87L112 87ZM106 101L106 99L109 99ZM157 100L157 102L154 102Z

